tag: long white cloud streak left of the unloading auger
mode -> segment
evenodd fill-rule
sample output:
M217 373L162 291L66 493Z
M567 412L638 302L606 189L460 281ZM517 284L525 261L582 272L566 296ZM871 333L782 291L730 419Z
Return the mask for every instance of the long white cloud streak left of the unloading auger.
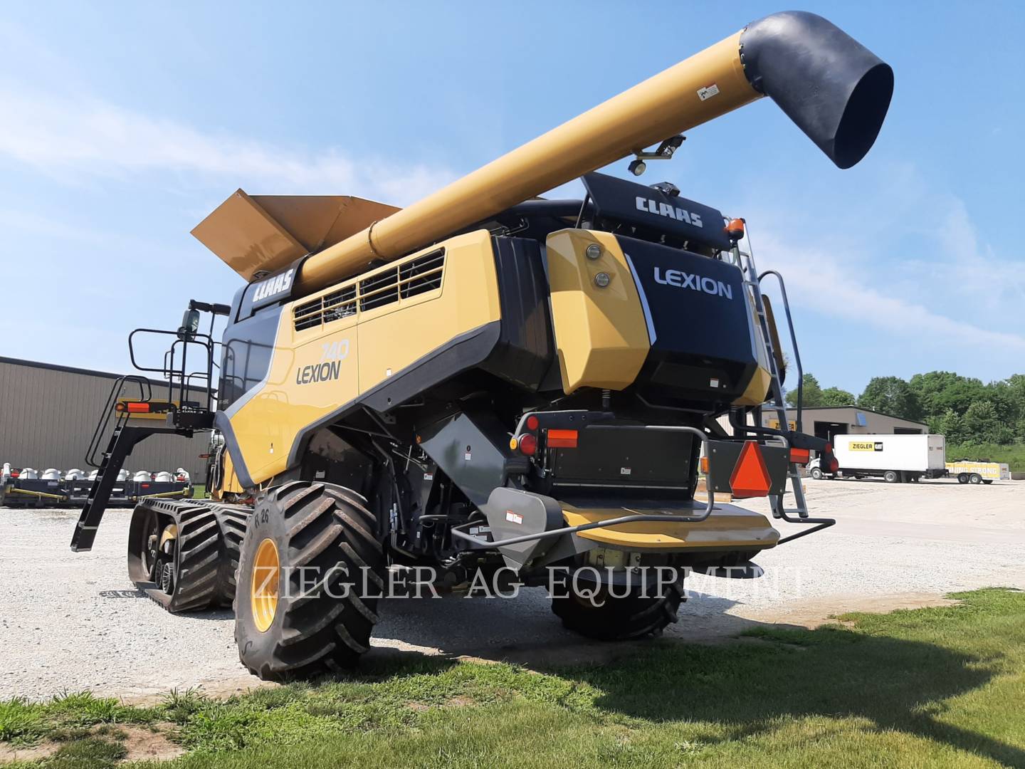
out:
M303 152L204 132L102 99L28 92L9 83L0 82L0 155L70 178L168 171L257 193L353 194L403 205L454 175L425 164L357 161L337 149Z

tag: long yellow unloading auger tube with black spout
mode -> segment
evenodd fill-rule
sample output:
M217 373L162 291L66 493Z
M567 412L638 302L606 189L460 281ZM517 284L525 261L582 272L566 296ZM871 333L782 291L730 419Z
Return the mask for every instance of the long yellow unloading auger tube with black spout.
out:
M850 168L875 141L893 84L889 65L825 18L774 13L313 254L293 295L427 246L762 96Z

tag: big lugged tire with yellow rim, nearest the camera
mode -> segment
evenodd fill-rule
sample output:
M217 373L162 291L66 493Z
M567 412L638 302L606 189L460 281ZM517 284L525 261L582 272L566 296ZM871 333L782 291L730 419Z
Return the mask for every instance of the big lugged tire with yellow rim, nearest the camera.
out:
M295 481L255 507L239 557L235 641L261 679L351 667L370 646L384 556L364 499Z

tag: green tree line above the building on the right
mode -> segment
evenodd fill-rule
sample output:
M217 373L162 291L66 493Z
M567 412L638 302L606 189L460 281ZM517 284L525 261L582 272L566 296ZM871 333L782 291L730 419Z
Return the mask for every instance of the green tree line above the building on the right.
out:
M805 406L859 406L891 416L924 421L953 444L1025 443L1025 374L983 383L952 371L930 371L910 379L874 376L855 397L839 388L822 388L805 374ZM796 405L797 390L786 396Z

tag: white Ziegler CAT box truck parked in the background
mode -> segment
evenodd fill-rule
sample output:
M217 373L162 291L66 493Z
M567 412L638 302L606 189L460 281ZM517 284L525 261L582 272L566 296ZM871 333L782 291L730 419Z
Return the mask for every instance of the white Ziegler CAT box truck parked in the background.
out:
M887 483L942 478L947 474L946 442L941 435L837 435L833 455L839 462L834 474L811 463L812 478L865 478Z

